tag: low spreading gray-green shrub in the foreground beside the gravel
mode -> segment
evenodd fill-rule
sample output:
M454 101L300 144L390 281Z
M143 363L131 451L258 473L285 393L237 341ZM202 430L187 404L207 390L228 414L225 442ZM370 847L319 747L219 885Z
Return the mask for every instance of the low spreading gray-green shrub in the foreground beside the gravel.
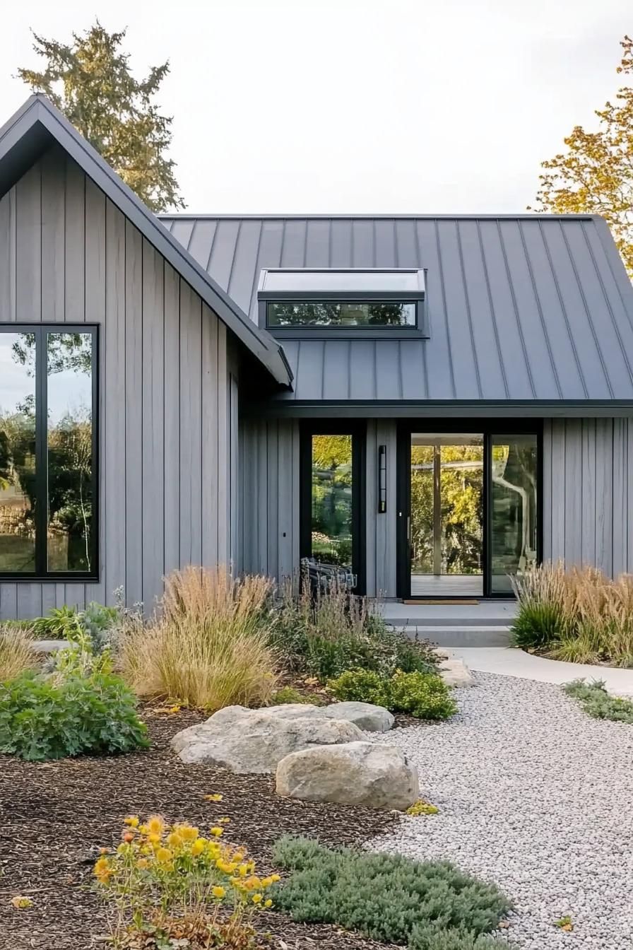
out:
M411 950L507 950L506 942L479 935L492 931L511 903L454 864L288 837L277 842L273 859L291 872L274 888L275 906L294 921L333 923Z

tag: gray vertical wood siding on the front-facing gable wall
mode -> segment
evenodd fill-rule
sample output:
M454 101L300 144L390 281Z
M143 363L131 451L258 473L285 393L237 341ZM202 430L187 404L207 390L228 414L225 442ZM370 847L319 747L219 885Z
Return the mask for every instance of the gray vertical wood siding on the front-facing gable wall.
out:
M120 586L151 609L173 568L236 558L230 332L57 147L0 199L0 308L98 324L101 383L100 580L0 583L0 619Z

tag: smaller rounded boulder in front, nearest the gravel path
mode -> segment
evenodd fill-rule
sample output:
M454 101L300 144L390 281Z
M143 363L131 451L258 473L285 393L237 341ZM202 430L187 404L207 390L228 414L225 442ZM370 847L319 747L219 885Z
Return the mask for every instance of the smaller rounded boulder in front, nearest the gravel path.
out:
M277 766L276 790L305 802L399 810L419 797L418 772L404 753L372 742L292 752Z

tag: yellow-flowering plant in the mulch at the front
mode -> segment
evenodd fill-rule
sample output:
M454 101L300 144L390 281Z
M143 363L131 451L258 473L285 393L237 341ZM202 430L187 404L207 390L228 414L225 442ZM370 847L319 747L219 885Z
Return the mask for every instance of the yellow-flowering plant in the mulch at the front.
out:
M121 844L102 848L94 865L116 911L115 946L251 946L252 914L271 906L267 891L279 877L260 877L243 847L221 840L223 832L220 823L205 834L159 815L125 819Z

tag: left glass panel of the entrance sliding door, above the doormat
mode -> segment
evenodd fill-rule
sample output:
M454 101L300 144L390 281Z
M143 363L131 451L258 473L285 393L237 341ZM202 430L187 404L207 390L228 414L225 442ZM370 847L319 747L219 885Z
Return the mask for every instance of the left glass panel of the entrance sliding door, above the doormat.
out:
M483 595L483 435L411 435L412 597Z

